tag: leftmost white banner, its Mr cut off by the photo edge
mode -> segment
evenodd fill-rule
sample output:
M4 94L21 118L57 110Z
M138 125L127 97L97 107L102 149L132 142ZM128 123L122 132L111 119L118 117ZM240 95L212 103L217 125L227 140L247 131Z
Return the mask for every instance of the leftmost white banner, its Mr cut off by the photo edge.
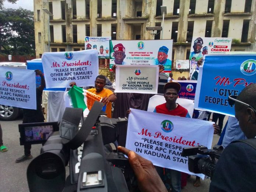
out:
M0 67L0 104L36 109L36 72L15 67Z

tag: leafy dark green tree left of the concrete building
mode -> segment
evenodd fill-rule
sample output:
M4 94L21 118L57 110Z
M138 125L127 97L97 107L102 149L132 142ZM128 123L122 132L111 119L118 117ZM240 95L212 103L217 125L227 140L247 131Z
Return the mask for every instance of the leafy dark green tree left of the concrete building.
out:
M35 54L33 11L21 7L0 11L0 46L5 54Z

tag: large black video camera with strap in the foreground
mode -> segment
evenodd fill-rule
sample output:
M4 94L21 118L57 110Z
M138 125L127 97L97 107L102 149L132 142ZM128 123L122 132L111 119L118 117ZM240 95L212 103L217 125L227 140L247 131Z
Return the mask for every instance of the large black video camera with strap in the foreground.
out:
M113 144L118 126L127 123L127 118L100 117L102 107L102 103L95 102L86 118L82 109L65 109L60 131L49 136L40 155L28 166L29 191L128 192L124 174L129 163ZM26 129L20 129L21 141L28 141L32 136L24 130L30 128L28 124L23 127ZM70 175L66 178L68 162Z

